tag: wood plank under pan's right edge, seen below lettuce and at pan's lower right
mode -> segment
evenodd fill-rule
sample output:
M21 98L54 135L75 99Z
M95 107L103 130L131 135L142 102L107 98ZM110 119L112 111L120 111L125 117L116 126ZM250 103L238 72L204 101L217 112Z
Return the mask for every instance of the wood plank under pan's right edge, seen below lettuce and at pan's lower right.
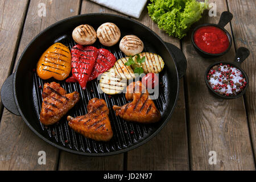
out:
M135 19L151 28L164 41L180 48L180 40L158 28L147 8ZM180 79L179 100L167 125L156 137L127 154L127 170L189 170L184 83Z

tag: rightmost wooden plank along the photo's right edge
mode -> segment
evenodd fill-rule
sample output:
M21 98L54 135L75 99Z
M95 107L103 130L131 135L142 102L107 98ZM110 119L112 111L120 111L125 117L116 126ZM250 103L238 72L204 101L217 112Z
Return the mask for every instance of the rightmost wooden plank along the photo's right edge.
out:
M242 63L242 69L249 77L249 87L245 93L245 105L249 120L251 141L256 159L256 37L255 37L255 1L228 0L230 12L234 15L232 31L236 48L246 47L250 50L250 56Z

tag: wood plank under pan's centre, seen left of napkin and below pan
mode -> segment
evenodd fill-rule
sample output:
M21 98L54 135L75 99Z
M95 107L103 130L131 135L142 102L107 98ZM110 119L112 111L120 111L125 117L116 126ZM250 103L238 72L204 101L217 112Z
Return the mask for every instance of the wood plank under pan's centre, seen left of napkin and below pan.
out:
M82 1L81 14L85 13L119 14L96 3ZM89 157L61 151L59 170L123 170L123 154Z

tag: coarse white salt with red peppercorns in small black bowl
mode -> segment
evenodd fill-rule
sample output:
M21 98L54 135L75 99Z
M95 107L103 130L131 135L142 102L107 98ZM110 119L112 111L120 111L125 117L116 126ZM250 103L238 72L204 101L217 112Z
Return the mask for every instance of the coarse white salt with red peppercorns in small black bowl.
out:
M228 64L218 64L212 67L207 79L212 89L224 96L239 94L247 84L242 72Z

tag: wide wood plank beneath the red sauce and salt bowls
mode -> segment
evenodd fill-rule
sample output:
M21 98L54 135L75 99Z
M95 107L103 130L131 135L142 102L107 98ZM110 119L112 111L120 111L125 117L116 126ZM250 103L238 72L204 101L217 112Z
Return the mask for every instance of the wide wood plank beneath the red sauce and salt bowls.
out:
M217 16L203 18L201 23L218 23L222 11L228 10L226 1L209 1L217 5ZM233 18L232 22L236 21ZM231 33L230 24L226 30ZM192 31L190 31L192 32ZM204 72L214 61L233 61L234 46L217 59L203 59L191 44L191 34L183 41L183 51L188 60L187 92L189 112L189 147L192 170L254 170L253 151L243 98L221 100L210 94ZM216 151L217 164L209 164L209 152Z

